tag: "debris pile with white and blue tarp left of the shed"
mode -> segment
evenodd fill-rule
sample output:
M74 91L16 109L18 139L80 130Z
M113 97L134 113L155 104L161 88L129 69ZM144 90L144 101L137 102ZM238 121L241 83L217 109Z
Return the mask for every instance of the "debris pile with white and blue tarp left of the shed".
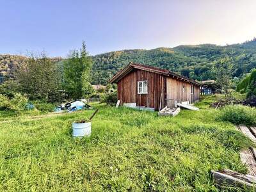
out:
M87 101L85 99L73 100L70 102L66 102L66 103L56 106L56 108L54 109L54 112L62 113L64 111L73 112L73 111L78 111L81 109L92 109L92 107L90 105L86 104L86 102Z

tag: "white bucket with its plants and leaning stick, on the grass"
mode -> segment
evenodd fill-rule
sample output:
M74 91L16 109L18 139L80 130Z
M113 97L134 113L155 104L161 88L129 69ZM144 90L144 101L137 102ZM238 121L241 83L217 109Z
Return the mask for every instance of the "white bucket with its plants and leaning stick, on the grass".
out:
M96 109L92 116L88 118L88 120L77 120L76 122L72 123L72 136L73 137L83 137L83 136L90 136L92 132L92 118L93 116L99 111Z

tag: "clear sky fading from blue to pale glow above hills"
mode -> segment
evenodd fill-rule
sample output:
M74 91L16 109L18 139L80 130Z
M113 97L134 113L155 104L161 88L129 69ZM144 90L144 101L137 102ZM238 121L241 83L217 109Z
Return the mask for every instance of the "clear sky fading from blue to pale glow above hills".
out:
M256 37L255 0L0 0L0 54L90 55Z

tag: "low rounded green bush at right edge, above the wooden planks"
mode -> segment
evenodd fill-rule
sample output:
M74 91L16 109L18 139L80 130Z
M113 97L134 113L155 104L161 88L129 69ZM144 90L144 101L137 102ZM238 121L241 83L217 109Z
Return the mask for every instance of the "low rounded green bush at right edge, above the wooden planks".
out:
M218 116L219 120L232 124L256 125L256 109L248 106L225 106Z

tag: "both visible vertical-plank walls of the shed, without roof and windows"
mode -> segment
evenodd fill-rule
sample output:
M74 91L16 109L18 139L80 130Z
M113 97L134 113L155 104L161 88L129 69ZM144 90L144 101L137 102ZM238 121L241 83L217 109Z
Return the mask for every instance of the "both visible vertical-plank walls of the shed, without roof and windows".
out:
M148 93L138 94L137 82L148 81ZM185 92L183 93L183 86ZM179 101L189 100L189 103L199 99L199 86L194 86L194 94L191 96L191 84L179 81L171 77L162 76L145 70L133 70L127 76L118 81L118 99L120 104L135 102L137 106L154 108L159 110L168 105L173 106L174 102L166 99ZM161 99L162 96L162 99ZM169 102L168 102L169 101Z

